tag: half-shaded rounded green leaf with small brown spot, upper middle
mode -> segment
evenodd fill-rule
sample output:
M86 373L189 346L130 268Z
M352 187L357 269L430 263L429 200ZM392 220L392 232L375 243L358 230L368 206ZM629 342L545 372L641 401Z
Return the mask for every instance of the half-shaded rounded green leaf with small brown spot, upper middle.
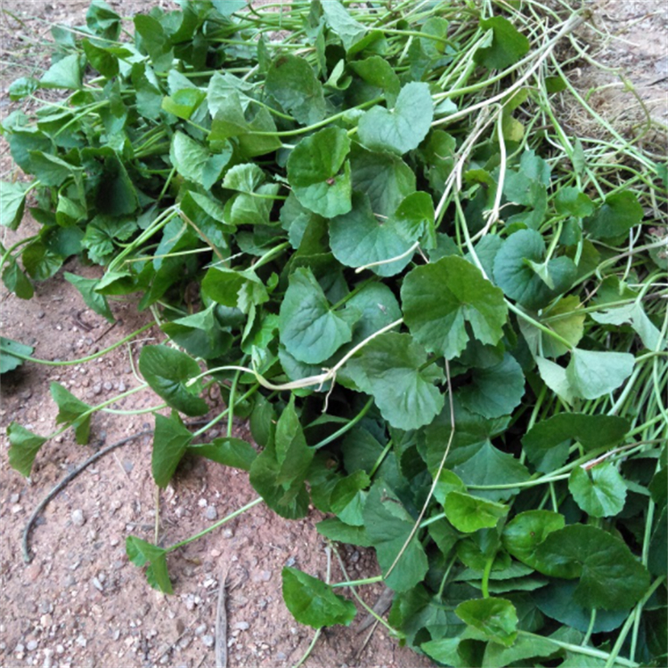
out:
M307 209L328 218L350 211L350 166L344 164L349 150L346 131L328 127L305 137L290 153L288 179Z

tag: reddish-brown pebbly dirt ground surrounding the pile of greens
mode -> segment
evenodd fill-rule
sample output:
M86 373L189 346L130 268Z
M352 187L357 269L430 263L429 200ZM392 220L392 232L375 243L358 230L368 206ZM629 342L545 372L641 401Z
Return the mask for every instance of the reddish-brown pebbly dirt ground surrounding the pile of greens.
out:
M7 86L17 76L44 67L42 44L53 22L80 24L86 2L2 0L0 16L0 111L10 109ZM110 2L123 15L145 11L148 3ZM162 2L169 6L167 0ZM597 26L620 36L599 49L597 57L611 67L624 67L653 117L668 123L668 8L655 0L599 0L591 4ZM32 17L32 18L29 18ZM632 44L630 44L632 43ZM41 55L40 55L41 54ZM12 67L8 67L12 63ZM591 79L582 68L582 90L614 83L615 77ZM597 75L600 77L600 75ZM593 82L593 84L592 84ZM599 83L600 82L600 83ZM610 85L601 94L609 101L622 86ZM628 108L628 104L624 105ZM0 175L17 174L6 145L0 145ZM20 175L19 175L20 178ZM18 234L36 223L24 221ZM8 245L19 238L3 230ZM99 269L70 261L64 270L85 276ZM2 296L2 334L35 347L37 358L76 359L102 350L150 321L132 302L114 302L118 325L86 310L77 291L62 277L36 286L24 302L6 291ZM7 463L4 429L16 421L32 431L53 431L57 409L49 382L57 381L89 403L130 390L143 344L158 342L159 330L144 333L132 344L88 364L37 366L27 364L5 374L0 407L0 664L7 668L122 668L213 666L215 617L221 574L229 570L227 644L229 665L289 666L305 653L313 630L297 624L281 598L281 567L295 565L324 577L328 568L325 544L314 525L314 512L302 521L278 518L259 504L224 527L169 557L175 594L164 596L147 585L143 573L126 559L130 534L152 541L156 527L156 498L151 480L151 437L135 439L87 468L49 503L30 534L33 560L23 563L20 539L33 509L69 471L90 455L77 446L68 431L45 445L37 456L31 479L23 479ZM215 400L215 398L214 398ZM158 404L150 392L121 399L112 407L137 409ZM108 446L151 427L150 414L94 416L92 447ZM214 438L215 430L208 433ZM245 426L237 435L249 438ZM256 498L247 475L205 461L185 463L159 499L159 540L169 545L211 526ZM341 549L350 577L379 573L369 551ZM342 578L331 556L332 580ZM371 604L381 587L368 587L363 597ZM363 618L363 614L359 615ZM399 648L381 628L364 645L366 632L337 628L323 632L306 661L318 666L428 666L425 657Z

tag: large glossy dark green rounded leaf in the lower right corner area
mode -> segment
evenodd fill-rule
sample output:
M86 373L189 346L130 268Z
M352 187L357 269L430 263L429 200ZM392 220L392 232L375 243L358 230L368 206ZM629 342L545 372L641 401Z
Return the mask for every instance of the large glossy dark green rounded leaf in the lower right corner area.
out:
M536 549L533 566L551 577L579 577L574 601L589 609L629 608L649 586L647 569L623 541L582 524L550 533Z

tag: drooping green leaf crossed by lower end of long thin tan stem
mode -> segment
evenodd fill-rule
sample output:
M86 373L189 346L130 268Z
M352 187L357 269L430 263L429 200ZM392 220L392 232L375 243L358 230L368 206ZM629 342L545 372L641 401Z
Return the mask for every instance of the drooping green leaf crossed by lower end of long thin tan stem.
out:
M364 503L363 517L367 535L376 548L380 569L385 573L411 534L414 519L381 480L371 487ZM395 592L407 592L420 583L427 570L427 555L417 536L413 536L385 583Z

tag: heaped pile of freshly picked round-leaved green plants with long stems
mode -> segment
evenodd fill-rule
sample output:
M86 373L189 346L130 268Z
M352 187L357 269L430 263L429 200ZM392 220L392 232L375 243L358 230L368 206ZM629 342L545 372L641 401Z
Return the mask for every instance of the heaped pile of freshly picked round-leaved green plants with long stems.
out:
M554 52L580 48L582 17L180 4L121 39L94 2L85 27L53 28L44 76L12 84L68 93L3 124L35 180L3 184L2 221L30 194L42 224L3 250L5 286L29 298L78 254L105 268L66 274L97 313L139 294L167 337L139 360L173 409L155 415L157 485L200 455L249 471L282 517L329 513L322 535L375 549L383 624L416 651L663 664L666 165L602 118L607 139L569 137L553 112L570 96L596 114ZM181 415L208 413L212 383L228 407L193 432ZM86 442L109 402L52 390ZM46 437L8 432L28 475ZM175 547L127 543L167 592ZM300 622L353 619L346 583L286 568L283 584Z

